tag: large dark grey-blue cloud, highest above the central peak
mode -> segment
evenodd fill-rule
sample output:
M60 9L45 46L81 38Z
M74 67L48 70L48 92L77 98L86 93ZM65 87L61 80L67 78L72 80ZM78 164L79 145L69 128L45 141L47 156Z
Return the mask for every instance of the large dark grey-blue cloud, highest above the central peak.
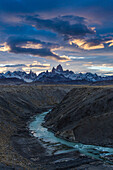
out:
M34 25L38 30L50 30L68 38L95 33L94 30L84 23L84 20L85 18L78 16L63 16L52 19L41 19L33 16L26 17L26 21ZM70 23L70 21L75 23Z

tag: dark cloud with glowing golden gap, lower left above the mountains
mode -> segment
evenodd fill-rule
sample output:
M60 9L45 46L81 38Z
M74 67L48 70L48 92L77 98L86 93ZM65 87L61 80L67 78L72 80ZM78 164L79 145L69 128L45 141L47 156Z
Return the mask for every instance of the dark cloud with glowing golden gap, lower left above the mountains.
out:
M29 42L30 42L30 45L39 44L41 45L41 48L35 49L35 48L30 48L30 47L25 48L25 46L22 47L23 45L27 45L27 43ZM34 56L47 57L47 58L49 57L51 59L56 59L56 60L66 60L65 57L60 57L59 55L54 54L51 51L51 48L57 47L56 44L41 42L40 40L36 40L36 39L10 37L7 41L7 45L10 47L9 52L12 52L12 53L31 54Z

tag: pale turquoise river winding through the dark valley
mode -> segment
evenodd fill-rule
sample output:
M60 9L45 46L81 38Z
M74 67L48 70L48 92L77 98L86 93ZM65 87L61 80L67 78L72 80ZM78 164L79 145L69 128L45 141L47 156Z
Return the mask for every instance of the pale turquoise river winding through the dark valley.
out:
M29 124L31 133L40 140L47 149L48 154L60 154L77 150L86 156L113 164L113 148L69 142L56 137L54 133L48 131L47 128L42 126L44 117L48 112L37 115Z

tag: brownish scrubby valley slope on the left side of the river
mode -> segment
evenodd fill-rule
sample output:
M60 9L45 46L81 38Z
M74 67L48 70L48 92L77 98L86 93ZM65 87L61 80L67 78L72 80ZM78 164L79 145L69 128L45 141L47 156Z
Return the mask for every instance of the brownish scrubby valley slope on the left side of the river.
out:
M54 85L0 86L0 163L24 168L33 167L25 158L32 156L27 155L25 146L30 141L30 146L35 144L39 147L39 153L43 151L43 148L34 139L29 139L26 122L30 116L58 104L71 88ZM20 148L20 143L24 146L23 149ZM27 149L30 150L29 145ZM20 151L19 154L18 151Z

